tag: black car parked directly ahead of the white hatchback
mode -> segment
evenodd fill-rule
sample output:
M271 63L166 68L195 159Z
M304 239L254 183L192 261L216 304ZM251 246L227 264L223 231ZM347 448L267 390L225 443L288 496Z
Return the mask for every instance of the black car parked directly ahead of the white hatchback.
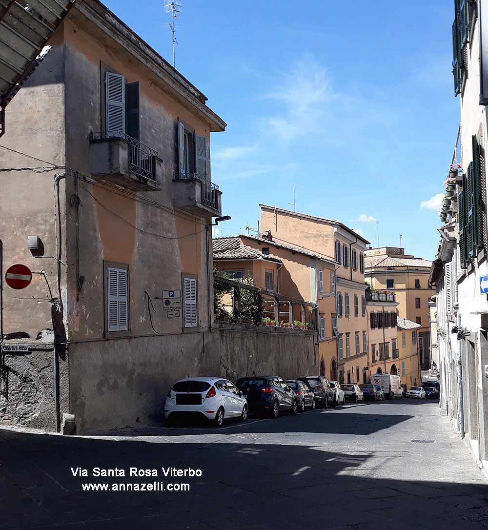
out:
M244 394L249 412L253 414L269 414L272 418L277 418L279 412L297 413L298 400L295 392L281 377L241 377L237 379L236 386Z

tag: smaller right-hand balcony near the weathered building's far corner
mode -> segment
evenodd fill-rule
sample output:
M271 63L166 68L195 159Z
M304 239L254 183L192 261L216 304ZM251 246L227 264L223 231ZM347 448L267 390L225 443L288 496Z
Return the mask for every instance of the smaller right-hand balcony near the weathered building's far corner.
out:
M175 173L173 206L202 217L222 215L222 192L197 173Z

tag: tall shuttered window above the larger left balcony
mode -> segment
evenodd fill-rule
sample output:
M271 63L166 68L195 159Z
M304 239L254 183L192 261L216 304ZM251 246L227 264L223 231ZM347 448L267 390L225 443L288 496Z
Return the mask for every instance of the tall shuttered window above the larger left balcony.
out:
M139 140L139 83L126 84L123 75L105 72L107 136L127 134Z

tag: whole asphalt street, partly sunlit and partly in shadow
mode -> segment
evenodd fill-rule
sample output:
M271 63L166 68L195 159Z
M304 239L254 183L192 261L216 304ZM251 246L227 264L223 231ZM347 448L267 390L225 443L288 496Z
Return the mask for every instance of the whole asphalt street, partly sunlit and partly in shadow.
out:
M488 481L438 402L0 440L0 530L488 528Z

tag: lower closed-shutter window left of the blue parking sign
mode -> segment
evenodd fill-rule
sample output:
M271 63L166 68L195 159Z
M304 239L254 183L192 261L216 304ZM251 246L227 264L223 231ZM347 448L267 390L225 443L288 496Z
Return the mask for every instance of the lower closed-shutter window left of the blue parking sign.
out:
M129 267L105 263L105 303L108 332L129 331Z

